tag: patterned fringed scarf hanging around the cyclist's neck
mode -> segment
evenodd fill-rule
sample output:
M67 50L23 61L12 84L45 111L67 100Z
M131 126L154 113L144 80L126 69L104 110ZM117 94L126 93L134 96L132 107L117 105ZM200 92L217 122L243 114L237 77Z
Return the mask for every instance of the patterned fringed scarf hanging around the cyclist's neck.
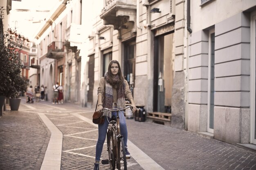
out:
M113 87L109 82L110 77L108 76L108 72L105 73L105 97L103 99L103 108L114 108L114 99L113 99ZM115 81L118 82L119 75L115 76ZM125 83L120 88L117 88L117 108L124 108L125 107ZM104 111L103 115L108 115L111 118L111 112Z

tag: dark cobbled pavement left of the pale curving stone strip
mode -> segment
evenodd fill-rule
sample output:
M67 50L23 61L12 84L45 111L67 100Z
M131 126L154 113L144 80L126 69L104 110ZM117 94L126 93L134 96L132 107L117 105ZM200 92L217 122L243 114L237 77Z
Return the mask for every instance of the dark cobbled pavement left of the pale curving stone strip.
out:
M0 170L40 170L50 135L36 113L7 110L0 118Z

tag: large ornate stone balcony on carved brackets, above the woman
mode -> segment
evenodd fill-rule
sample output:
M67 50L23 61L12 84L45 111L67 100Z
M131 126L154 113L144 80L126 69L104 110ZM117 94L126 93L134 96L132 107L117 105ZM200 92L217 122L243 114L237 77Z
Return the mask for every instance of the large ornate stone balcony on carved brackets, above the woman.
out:
M105 25L111 24L114 29L120 29L126 22L136 24L136 11L136 0L105 0L100 18Z

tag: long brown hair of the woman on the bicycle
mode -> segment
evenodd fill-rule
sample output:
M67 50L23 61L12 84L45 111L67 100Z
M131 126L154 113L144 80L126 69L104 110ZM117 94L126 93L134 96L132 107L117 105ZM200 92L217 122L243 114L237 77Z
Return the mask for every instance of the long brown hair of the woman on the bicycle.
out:
M119 76L119 79L118 79L118 80L115 79L115 75L113 75L113 74L111 73L111 70L110 70L111 65L112 65L113 63L116 63L116 64L118 65L118 73L117 73L117 75ZM122 71L121 71L121 67L120 67L120 64L119 64L119 62L118 62L117 60L112 60L112 61L108 64L108 76L110 77L109 82L110 82L110 84L111 84L112 86L115 85L115 84L117 84L117 86L120 87L120 86L122 86L122 84L124 83L124 77L123 77L123 74L122 74Z

